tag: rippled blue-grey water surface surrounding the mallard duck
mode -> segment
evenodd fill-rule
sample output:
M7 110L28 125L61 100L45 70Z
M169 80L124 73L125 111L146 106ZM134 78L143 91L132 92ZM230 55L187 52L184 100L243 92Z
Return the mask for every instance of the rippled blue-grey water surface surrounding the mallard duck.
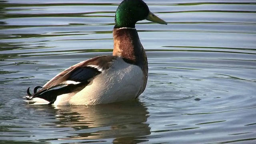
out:
M28 87L112 54L121 0L0 1L0 143L256 143L256 1L145 0L149 62L138 100L26 105Z

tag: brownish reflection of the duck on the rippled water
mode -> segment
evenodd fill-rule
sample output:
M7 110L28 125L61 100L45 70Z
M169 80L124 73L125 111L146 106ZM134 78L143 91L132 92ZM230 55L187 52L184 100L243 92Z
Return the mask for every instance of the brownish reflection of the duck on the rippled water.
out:
M97 106L57 106L58 127L72 128L72 139L114 139L113 142L143 142L150 134L148 112L137 100Z

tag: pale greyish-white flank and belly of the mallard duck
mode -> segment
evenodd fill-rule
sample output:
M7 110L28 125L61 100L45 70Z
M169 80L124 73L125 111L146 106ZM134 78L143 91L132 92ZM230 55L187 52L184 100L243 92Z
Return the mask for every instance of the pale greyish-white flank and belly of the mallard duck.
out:
M102 71L79 92L62 94L54 105L96 105L132 100L142 93L143 72L140 67L117 58L111 68Z

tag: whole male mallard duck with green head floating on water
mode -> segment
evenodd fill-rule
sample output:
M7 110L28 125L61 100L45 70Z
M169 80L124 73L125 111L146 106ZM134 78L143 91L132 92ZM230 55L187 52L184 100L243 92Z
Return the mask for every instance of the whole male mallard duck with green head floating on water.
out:
M34 93L27 89L28 104L97 105L128 101L144 92L148 80L148 60L135 28L148 20L167 24L150 12L142 0L123 0L115 13L112 55L79 62L60 72ZM39 90L38 90L39 89Z

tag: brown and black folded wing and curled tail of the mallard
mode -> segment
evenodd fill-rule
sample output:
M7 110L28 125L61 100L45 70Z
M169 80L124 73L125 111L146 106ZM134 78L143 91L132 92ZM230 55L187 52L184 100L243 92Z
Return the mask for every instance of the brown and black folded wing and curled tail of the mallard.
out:
M61 94L82 90L95 76L110 68L116 58L117 56L98 56L75 64L54 76L43 87L34 88L34 94L30 94L28 88L26 98L27 100L42 98L53 104ZM38 88L42 89L36 92Z

